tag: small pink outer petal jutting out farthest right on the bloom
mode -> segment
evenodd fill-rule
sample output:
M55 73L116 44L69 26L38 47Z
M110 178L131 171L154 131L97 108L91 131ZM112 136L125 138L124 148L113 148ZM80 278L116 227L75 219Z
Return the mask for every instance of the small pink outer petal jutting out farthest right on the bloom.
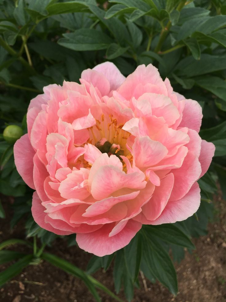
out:
M201 153L199 156L199 162L201 163L202 172L200 177L202 177L209 168L214 155L215 146L213 143L208 143L206 140L202 139L201 142Z

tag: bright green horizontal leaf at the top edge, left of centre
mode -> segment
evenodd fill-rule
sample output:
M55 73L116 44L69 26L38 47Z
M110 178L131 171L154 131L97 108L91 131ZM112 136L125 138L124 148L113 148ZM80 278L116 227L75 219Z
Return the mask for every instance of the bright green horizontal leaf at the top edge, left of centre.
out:
M88 6L89 6L89 1L77 0L71 2L50 4L46 7L46 10L48 11L49 15L52 16L56 14L67 14L67 13L89 11Z

